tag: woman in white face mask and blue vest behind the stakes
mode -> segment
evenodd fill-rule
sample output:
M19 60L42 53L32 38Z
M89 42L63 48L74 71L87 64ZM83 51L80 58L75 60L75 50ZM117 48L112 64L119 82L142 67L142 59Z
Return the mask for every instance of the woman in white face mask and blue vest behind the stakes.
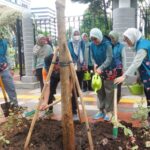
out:
M70 50L71 57L76 69L76 74L80 87L82 87L83 73L87 68L85 68L83 56L85 50L85 43L83 42L83 40L81 40L80 31L78 29L73 30L72 39L68 42L68 48ZM74 120L77 120L77 104L74 92L72 94L72 112Z

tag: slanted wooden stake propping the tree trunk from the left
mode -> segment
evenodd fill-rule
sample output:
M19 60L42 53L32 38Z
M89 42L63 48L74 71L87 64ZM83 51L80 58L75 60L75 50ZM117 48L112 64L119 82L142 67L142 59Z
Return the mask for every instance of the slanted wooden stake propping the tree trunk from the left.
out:
M53 56L52 62L56 61L57 52L58 52L58 48L56 48L56 50L54 52L54 56ZM41 92L41 95L40 95L40 98L39 98L39 103L38 103L38 105L36 107L36 111L35 111L34 117L32 119L32 123L31 123L30 129L29 129L26 141L25 141L24 150L27 150L27 148L28 148L28 145L29 145L29 142L30 142L30 139L31 139L31 135L32 135L32 131L33 131L35 122L36 122L36 120L38 118L38 113L39 113L39 108L40 108L40 105L41 105L41 102L42 102L42 98L43 98L44 92L45 92L45 90L47 88L47 82L50 80L51 74L53 72L54 65L55 64L51 64L51 66L49 68L48 75L46 77L46 84L44 84L44 87L42 89L42 92Z

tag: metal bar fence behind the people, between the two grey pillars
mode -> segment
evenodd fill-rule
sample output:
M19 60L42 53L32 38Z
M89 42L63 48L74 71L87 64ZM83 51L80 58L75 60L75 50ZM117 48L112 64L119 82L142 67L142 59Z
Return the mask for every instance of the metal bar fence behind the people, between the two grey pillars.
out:
M78 28L81 33L89 33L94 27L100 28L104 34L112 29L112 19L108 18L108 23L106 23L106 18L103 15L91 15L86 14L82 16L69 16L65 17L66 23L66 37L71 38L71 33L74 28ZM57 41L57 19L50 17L46 19L36 19L34 20L35 35L38 33L50 34L54 41Z

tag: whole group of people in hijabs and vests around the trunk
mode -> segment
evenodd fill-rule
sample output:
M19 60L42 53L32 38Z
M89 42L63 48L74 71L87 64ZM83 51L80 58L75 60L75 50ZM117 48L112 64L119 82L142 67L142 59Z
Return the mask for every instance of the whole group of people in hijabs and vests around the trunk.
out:
M68 48L72 56L80 87L84 91L92 90L91 80L88 82L83 80L84 73L87 71L99 74L102 79L102 88L97 91L99 111L93 116L94 119L103 118L105 121L111 120L113 114L114 84L117 84L117 99L119 102L122 82L129 76L132 76L137 70L144 85L147 105L150 107L150 41L144 39L141 32L136 28L128 28L123 33L123 40L136 53L132 64L127 70L125 46L119 42L119 34L115 31L111 31L108 36L104 36L100 29L93 28L88 38L87 33L81 35L80 31L75 29L72 32L72 38L68 41ZM3 39L2 34L0 34L0 76L11 105L17 107L16 91L9 71L11 68L9 67L6 53L7 43ZM53 55L53 47L50 39L42 34L38 35L36 45L33 48L32 67L33 74L40 81L41 90L44 86L43 70L48 72ZM54 94L56 93L59 81L58 56L40 110L44 110L47 104L55 100ZM53 107L50 107L48 113L51 114L52 112ZM74 119L77 119L77 104L74 90L72 90L72 112ZM148 117L150 118L150 113Z

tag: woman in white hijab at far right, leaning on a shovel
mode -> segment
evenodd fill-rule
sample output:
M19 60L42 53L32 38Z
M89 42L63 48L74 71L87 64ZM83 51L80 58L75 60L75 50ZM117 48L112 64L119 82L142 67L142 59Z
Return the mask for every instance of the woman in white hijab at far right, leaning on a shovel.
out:
M144 85L147 105L150 108L150 41L144 39L141 32L136 28L128 28L123 33L123 36L128 47L134 49L136 55L126 72L121 77L115 79L115 83L122 83L138 70L140 79ZM150 112L148 113L148 121L150 121Z

